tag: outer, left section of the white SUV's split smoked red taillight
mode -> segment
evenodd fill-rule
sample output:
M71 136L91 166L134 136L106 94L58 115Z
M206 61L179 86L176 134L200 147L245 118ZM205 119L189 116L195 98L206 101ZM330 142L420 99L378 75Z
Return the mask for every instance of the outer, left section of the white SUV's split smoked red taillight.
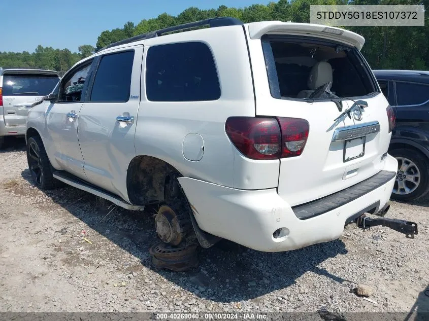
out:
M237 149L251 159L280 157L280 127L275 118L229 117L225 130Z

